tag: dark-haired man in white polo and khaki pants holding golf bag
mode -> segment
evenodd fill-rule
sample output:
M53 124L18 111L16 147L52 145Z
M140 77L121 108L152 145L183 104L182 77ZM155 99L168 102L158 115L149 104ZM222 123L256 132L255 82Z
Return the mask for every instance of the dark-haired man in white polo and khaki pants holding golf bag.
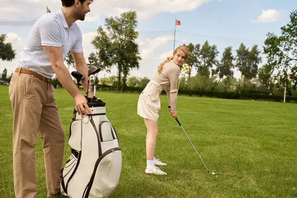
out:
M51 78L56 74L83 116L90 113L87 99L80 93L63 63L71 51L77 71L88 76L82 33L75 23L84 20L93 0L61 0L62 8L43 15L33 26L9 87L13 109L13 178L16 198L33 198L37 192L35 143L43 140L48 197L60 194L64 131L54 99ZM92 85L82 81L93 97Z

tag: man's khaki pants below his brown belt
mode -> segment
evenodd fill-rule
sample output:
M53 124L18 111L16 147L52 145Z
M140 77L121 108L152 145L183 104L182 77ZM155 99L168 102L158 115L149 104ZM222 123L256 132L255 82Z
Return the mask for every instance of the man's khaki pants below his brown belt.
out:
M49 194L60 192L64 131L54 99L54 88L39 78L15 72L9 86L13 110L13 180L16 198L37 192L35 144L43 140Z

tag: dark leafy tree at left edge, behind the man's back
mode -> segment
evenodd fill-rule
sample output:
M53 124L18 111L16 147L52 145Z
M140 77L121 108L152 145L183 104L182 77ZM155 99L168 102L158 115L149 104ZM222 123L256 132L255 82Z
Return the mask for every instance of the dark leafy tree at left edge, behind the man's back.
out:
M11 61L15 58L15 50L12 49L11 43L4 43L6 34L0 35L0 59L3 61Z

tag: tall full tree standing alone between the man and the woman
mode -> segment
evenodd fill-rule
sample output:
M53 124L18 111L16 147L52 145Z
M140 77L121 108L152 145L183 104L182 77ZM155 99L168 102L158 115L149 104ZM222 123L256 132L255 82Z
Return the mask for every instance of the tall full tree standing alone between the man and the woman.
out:
M121 77L124 76L124 86L130 70L139 69L139 47L136 42L139 33L137 27L137 14L135 11L128 11L120 17L105 18L106 31L100 26L98 35L91 42L98 50L98 59L107 68L117 67L117 88L121 84Z

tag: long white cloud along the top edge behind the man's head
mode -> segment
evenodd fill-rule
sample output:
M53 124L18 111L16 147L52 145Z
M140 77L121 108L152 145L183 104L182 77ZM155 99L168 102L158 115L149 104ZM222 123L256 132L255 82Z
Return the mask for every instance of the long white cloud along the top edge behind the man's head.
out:
M91 12L85 21L99 21L99 14L120 15L124 11L135 10L139 20L154 18L162 12L190 11L210 1L220 0L95 0L91 5ZM47 5L53 12L61 7L60 0L14 0L1 1L0 21L28 21L37 20L46 13ZM28 14L30 13L30 14ZM99 13L99 14L98 14Z

